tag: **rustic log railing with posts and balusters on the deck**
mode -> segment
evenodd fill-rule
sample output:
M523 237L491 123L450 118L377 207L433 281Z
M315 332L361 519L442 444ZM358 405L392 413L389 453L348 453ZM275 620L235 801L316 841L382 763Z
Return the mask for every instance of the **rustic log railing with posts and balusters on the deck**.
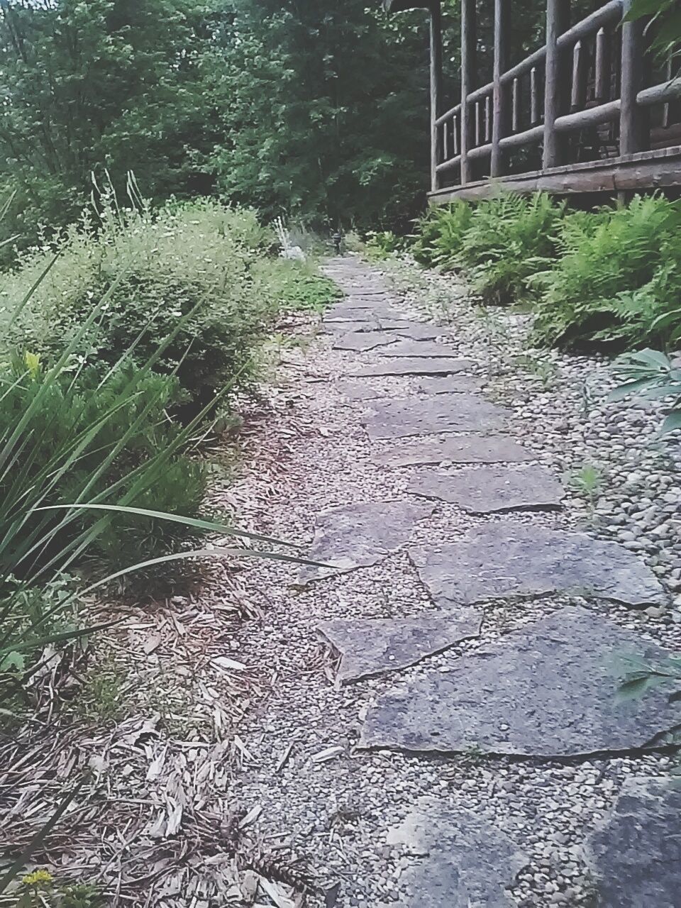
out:
M461 100L444 114L431 104L433 191L503 176L509 152L538 143L542 171L569 164L570 133L602 124L614 124L613 156L646 151L646 111L665 104L668 120L681 79L669 69L665 82L646 86L644 24L622 21L630 4L610 0L569 25L568 0L548 0L546 44L508 67L511 4L494 0L493 78L476 88L476 2L461 0Z

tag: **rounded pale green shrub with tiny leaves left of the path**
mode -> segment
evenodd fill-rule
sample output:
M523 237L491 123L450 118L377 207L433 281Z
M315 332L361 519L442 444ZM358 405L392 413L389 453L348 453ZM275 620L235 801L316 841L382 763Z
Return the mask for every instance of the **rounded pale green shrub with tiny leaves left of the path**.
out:
M74 350L81 360L112 366L131 351L133 361L147 362L171 337L154 369L177 375L195 409L226 383L247 383L276 308L253 273L271 242L255 214L207 201L151 212L141 200L121 213L110 201L100 220L94 230L84 216L66 233L21 318L3 329L5 344L54 362L108 291L101 317ZM52 258L48 247L22 256L5 299L25 296Z

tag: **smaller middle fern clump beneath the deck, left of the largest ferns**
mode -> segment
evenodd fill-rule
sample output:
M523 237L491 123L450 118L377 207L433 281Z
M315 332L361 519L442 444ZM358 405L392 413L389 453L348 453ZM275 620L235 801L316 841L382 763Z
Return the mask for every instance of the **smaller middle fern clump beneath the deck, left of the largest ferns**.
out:
M563 202L545 192L509 192L480 202L464 232L459 263L473 290L488 303L508 304L528 296L528 278L556 253Z

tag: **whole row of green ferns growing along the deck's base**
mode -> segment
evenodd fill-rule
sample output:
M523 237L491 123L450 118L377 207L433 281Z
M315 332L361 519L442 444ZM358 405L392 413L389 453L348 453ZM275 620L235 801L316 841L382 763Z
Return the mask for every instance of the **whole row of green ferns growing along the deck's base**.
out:
M533 301L540 343L621 350L681 337L680 238L681 203L661 195L567 213L541 193L508 194L430 211L413 252L464 268L487 302Z

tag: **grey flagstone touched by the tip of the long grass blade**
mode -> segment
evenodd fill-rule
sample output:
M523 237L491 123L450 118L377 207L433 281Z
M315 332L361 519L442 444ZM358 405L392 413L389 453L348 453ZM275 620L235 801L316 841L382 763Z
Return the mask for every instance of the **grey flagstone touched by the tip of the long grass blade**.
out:
M304 565L301 582L378 564L404 546L414 524L432 512L432 505L409 501L366 501L321 511L308 552L320 567Z

